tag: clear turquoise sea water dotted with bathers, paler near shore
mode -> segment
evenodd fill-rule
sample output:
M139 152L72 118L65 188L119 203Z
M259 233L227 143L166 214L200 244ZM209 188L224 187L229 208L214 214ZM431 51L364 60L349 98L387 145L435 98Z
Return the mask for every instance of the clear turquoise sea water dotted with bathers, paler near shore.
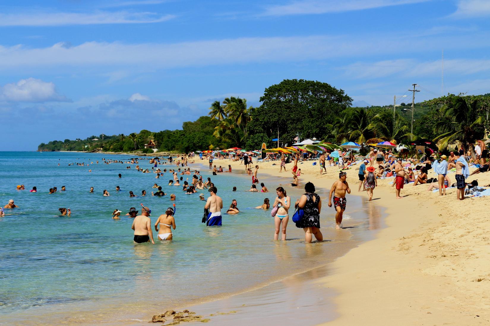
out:
M288 241L287 249L274 245L270 211L249 208L262 204L265 197L274 198L277 179L261 179L272 193L251 193L246 192L250 179L242 171L213 176L206 167L194 165L201 168L203 178L211 177L224 207L237 199L241 210L239 215L223 215L222 227L207 228L201 223L205 202L199 201L198 194L184 194L181 186L168 186L171 174L155 179L155 174L138 173L135 164L130 170L126 170L129 164L102 164L102 157L126 161L130 156L0 152L0 204L14 199L20 206L0 217L0 323L22 324L28 318L24 313L36 313L47 324L71 323L60 316L73 309L83 310L78 322L112 318L111 310L130 318L134 309L151 312L157 306L189 303L277 280L324 264L331 257L327 253L334 250L319 243L314 257L305 255L303 231L291 221L288 239L296 240ZM73 162L94 164L68 166ZM152 166L147 160L139 165ZM188 177L192 179L185 175L184 180ZM162 185L167 196L129 197L129 190L140 195L145 189L150 195L154 183ZM26 190L16 190L18 184ZM61 192L63 185L66 192ZM37 193L29 192L32 186ZM58 193L49 195L53 186ZM94 194L89 193L91 186ZM122 191L116 192L116 186ZM238 192L231 191L233 186ZM102 196L104 189L111 196ZM289 189L294 201L301 192ZM202 192L208 196L206 190ZM171 193L177 196L175 202L170 201ZM157 241L153 230L155 245L134 245L132 219L123 214L130 207L140 210L140 203L152 210L152 223L176 204L172 242ZM360 204L357 210L351 205L351 218L358 224L372 224ZM71 208L72 217L58 216L59 207ZM111 218L114 209L123 211L120 220ZM328 222L322 218L322 227L331 222L331 217Z

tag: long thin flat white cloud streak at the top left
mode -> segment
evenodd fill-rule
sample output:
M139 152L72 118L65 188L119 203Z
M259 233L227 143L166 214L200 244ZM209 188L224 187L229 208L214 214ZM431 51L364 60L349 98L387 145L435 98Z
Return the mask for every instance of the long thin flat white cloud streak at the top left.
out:
M98 11L94 13L69 12L27 12L0 14L0 26L62 26L92 24L137 24L165 22L173 15L159 15L152 12Z

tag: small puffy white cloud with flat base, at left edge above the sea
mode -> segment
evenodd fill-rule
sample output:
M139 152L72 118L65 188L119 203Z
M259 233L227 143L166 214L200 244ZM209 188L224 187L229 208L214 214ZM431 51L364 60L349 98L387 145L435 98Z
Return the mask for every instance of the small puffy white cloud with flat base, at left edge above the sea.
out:
M8 102L67 102L65 96L56 92L51 82L40 79L21 79L17 83L0 87L0 100Z

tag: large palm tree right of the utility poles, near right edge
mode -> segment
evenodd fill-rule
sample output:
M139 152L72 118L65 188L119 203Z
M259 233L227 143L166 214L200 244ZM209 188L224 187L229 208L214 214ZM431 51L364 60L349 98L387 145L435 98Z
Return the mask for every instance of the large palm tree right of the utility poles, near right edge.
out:
M441 113L443 118L436 123L435 128L441 134L434 138L441 149L458 140L468 149L485 132L484 117L478 112L478 99L468 105L463 97L456 96L450 105L441 108Z

